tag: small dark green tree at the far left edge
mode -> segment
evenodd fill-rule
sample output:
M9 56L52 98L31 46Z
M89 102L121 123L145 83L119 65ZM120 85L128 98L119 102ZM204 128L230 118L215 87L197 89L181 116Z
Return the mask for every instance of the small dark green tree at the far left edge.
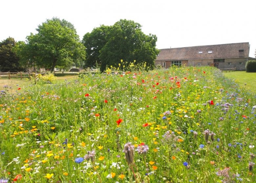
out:
M19 72L23 71L19 64L19 58L13 52L16 45L14 38L7 38L0 42L0 71L1 72Z

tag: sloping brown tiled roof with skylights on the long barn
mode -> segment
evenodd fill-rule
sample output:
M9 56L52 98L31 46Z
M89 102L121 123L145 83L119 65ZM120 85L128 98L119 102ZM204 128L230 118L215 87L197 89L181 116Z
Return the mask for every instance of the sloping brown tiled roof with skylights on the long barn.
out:
M239 51L243 49L244 51ZM202 51L202 54L198 52ZM212 53L208 53L212 51ZM249 42L160 49L156 61L248 58Z

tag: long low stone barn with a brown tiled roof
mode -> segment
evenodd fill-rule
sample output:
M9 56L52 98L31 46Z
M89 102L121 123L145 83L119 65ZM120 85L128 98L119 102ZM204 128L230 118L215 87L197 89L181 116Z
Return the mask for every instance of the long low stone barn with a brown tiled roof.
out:
M245 70L249 58L249 42L191 46L183 48L160 49L156 65L168 68L171 65L215 66L219 69L236 68Z

